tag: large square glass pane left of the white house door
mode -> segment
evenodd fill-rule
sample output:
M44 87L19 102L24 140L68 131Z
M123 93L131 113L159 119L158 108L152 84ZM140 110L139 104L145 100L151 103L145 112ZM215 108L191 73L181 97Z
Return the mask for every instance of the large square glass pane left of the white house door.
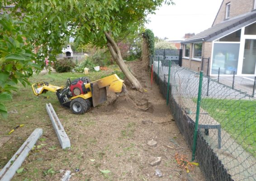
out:
M238 43L215 43L213 46L212 74L232 75L233 71L237 74L237 63L239 55Z

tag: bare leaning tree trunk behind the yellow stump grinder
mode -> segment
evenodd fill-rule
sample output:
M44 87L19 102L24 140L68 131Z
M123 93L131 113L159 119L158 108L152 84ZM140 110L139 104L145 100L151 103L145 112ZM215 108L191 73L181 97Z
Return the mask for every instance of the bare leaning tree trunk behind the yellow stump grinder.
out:
M113 40L113 38L109 35L109 33L104 32L104 34L107 38L107 45L113 59L119 65L119 67L123 71L123 74L128 79L128 81L133 85L133 88L136 88L137 90L141 90L142 86L140 82L133 76L133 74L128 70L128 67L126 66L126 64L123 62L123 58L121 56L121 52L118 45Z

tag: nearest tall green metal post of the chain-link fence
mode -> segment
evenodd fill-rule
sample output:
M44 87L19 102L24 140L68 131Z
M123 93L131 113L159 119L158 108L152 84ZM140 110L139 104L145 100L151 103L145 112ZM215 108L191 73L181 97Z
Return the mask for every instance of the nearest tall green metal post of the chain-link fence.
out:
M192 146L192 161L194 161L194 157L195 157L195 148L196 148L196 140L197 140L197 133L198 133L198 121L199 121L201 94L202 94L202 82L203 82L203 71L200 71L195 126L194 126L194 138L193 138L193 146Z

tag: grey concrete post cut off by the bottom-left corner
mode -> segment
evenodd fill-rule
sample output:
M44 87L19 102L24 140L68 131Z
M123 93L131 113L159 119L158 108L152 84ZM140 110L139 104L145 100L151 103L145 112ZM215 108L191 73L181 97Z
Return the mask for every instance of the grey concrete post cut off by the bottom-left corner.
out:
M10 181L14 176L16 170L19 169L25 158L27 157L29 151L36 144L38 138L43 134L43 129L35 129L28 139L21 145L18 151L13 155L13 157L6 163L5 167L0 171L0 181Z

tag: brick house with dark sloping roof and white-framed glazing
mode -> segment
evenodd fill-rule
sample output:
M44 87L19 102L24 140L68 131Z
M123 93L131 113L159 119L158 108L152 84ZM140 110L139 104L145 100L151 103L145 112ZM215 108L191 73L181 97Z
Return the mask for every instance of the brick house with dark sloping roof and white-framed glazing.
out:
M182 67L256 76L256 0L223 0L212 27L181 42Z

